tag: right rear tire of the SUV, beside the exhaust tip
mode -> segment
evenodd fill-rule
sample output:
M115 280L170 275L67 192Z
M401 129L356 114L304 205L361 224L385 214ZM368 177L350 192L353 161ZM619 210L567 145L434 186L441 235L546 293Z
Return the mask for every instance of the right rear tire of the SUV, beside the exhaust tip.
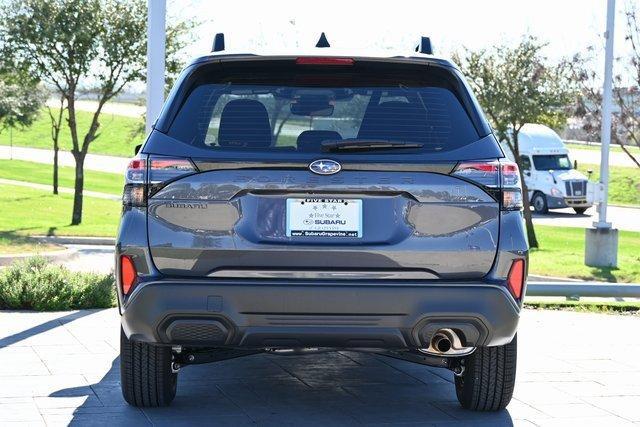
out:
M516 382L517 340L498 347L479 347L464 358L464 372L455 377L463 408L500 411L507 407Z

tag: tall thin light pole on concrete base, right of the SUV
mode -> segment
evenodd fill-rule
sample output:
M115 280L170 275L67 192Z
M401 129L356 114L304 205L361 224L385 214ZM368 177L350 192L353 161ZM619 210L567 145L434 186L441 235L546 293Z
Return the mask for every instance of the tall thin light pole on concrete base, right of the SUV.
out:
M616 0L607 0L607 30L604 56L604 84L602 89L602 128L600 182L596 188L598 221L586 230L585 264L593 267L617 267L618 230L607 222L607 199L609 193L609 145L611 144L611 96L613 83L613 39Z

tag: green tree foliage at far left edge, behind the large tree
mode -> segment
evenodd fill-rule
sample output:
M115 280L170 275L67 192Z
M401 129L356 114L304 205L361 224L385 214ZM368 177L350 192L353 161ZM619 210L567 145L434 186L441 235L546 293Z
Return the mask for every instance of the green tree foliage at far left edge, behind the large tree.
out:
M29 126L45 99L37 81L16 74L0 75L0 131Z

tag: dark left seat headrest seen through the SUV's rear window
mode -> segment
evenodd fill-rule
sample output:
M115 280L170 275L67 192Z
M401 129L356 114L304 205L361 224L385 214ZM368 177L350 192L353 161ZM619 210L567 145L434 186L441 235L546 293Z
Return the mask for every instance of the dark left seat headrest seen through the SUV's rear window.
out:
M253 99L228 102L220 115L218 144L239 148L271 146L271 124L264 105Z

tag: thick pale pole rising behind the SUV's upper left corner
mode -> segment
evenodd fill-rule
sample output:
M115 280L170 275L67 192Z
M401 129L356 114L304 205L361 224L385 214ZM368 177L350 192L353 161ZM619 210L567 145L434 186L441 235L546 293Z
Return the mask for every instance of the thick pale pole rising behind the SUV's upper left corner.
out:
M151 132L164 103L166 0L147 0L147 122Z

